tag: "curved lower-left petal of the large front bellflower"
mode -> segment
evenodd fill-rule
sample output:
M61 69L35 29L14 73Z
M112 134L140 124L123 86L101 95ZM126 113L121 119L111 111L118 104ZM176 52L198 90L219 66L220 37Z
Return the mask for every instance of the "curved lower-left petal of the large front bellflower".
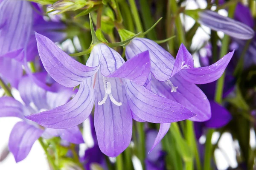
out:
M93 109L93 89L90 79L80 84L76 96L65 105L49 111L26 116L44 127L66 129L84 122Z

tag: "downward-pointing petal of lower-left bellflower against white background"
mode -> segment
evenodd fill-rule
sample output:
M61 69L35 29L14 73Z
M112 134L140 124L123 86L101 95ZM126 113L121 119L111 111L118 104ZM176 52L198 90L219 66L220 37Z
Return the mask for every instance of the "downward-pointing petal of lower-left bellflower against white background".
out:
M9 138L9 150L19 162L26 158L35 141L44 130L38 129L26 122L17 122L13 127Z

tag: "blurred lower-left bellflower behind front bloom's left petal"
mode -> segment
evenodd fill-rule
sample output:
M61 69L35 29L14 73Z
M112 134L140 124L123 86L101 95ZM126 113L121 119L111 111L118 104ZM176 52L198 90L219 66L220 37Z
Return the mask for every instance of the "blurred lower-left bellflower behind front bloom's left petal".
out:
M41 74L38 76L41 77ZM18 85L24 105L12 97L0 98L0 117L14 116L22 119L13 127L9 137L9 150L14 155L16 162L26 158L32 145L40 136L47 139L60 136L67 142L84 143L78 126L69 129L50 129L24 118L24 116L37 113L40 110L63 105L70 100L73 95L72 88L65 88L56 82L53 85L58 89L56 93L45 91L36 85L30 77L24 76Z

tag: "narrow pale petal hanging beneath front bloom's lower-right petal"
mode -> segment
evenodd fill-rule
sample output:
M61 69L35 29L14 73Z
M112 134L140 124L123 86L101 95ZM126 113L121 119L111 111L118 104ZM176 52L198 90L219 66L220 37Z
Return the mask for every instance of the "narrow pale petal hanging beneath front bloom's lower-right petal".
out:
M148 154L155 154L154 153L154 148L157 146L157 145L160 145L158 144L162 139L163 137L166 135L166 133L169 131L170 129L170 126L171 126L171 123L161 123L160 124L160 129L157 133L157 136L154 140L154 144L152 145L151 149L148 151ZM153 150L153 151L152 151Z

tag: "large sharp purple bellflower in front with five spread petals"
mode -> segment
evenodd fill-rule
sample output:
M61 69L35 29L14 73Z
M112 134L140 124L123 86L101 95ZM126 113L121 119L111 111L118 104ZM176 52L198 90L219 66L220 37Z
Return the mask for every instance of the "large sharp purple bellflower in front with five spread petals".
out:
M36 33L38 52L46 71L66 87L79 86L67 104L26 116L44 127L69 128L90 115L100 150L115 157L130 144L132 113L147 122L169 123L195 116L192 111L152 93L143 85L150 72L148 51L125 62L104 43L93 46L86 65L64 53L47 37Z

